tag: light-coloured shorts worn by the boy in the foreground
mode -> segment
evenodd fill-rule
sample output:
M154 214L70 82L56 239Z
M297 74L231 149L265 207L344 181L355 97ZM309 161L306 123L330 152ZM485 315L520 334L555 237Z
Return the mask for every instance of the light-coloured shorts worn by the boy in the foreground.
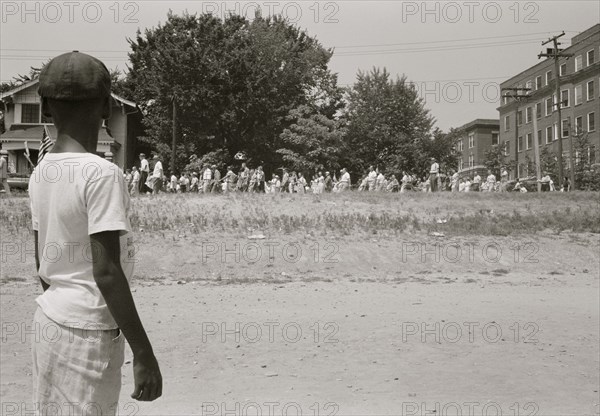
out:
M107 331L62 326L38 307L33 328L33 404L38 415L115 415L125 340Z

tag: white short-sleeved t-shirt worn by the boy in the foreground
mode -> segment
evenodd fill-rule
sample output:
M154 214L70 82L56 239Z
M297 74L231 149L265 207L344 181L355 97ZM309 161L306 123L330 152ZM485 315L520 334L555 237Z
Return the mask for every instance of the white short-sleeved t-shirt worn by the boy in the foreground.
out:
M121 267L133 275L135 249L123 171L91 153L48 153L29 180L39 276L50 287L36 302L72 328L117 328L92 272L90 235L120 231Z

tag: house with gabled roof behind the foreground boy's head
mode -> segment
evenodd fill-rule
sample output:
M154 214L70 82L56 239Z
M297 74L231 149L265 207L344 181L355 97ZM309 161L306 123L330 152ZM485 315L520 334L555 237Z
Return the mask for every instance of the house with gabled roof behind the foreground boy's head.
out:
M41 97L37 93L39 80L36 78L17 88L0 94L4 127L0 135L0 147L8 151L8 165L13 173L31 172L31 164L25 157L26 149L30 159L37 161L44 130L56 140L56 128L52 120L42 114ZM105 157L113 154L113 161L121 168L131 167L136 159L137 137L142 134L142 114L136 103L112 96L112 114L104 122L98 138L96 153Z

